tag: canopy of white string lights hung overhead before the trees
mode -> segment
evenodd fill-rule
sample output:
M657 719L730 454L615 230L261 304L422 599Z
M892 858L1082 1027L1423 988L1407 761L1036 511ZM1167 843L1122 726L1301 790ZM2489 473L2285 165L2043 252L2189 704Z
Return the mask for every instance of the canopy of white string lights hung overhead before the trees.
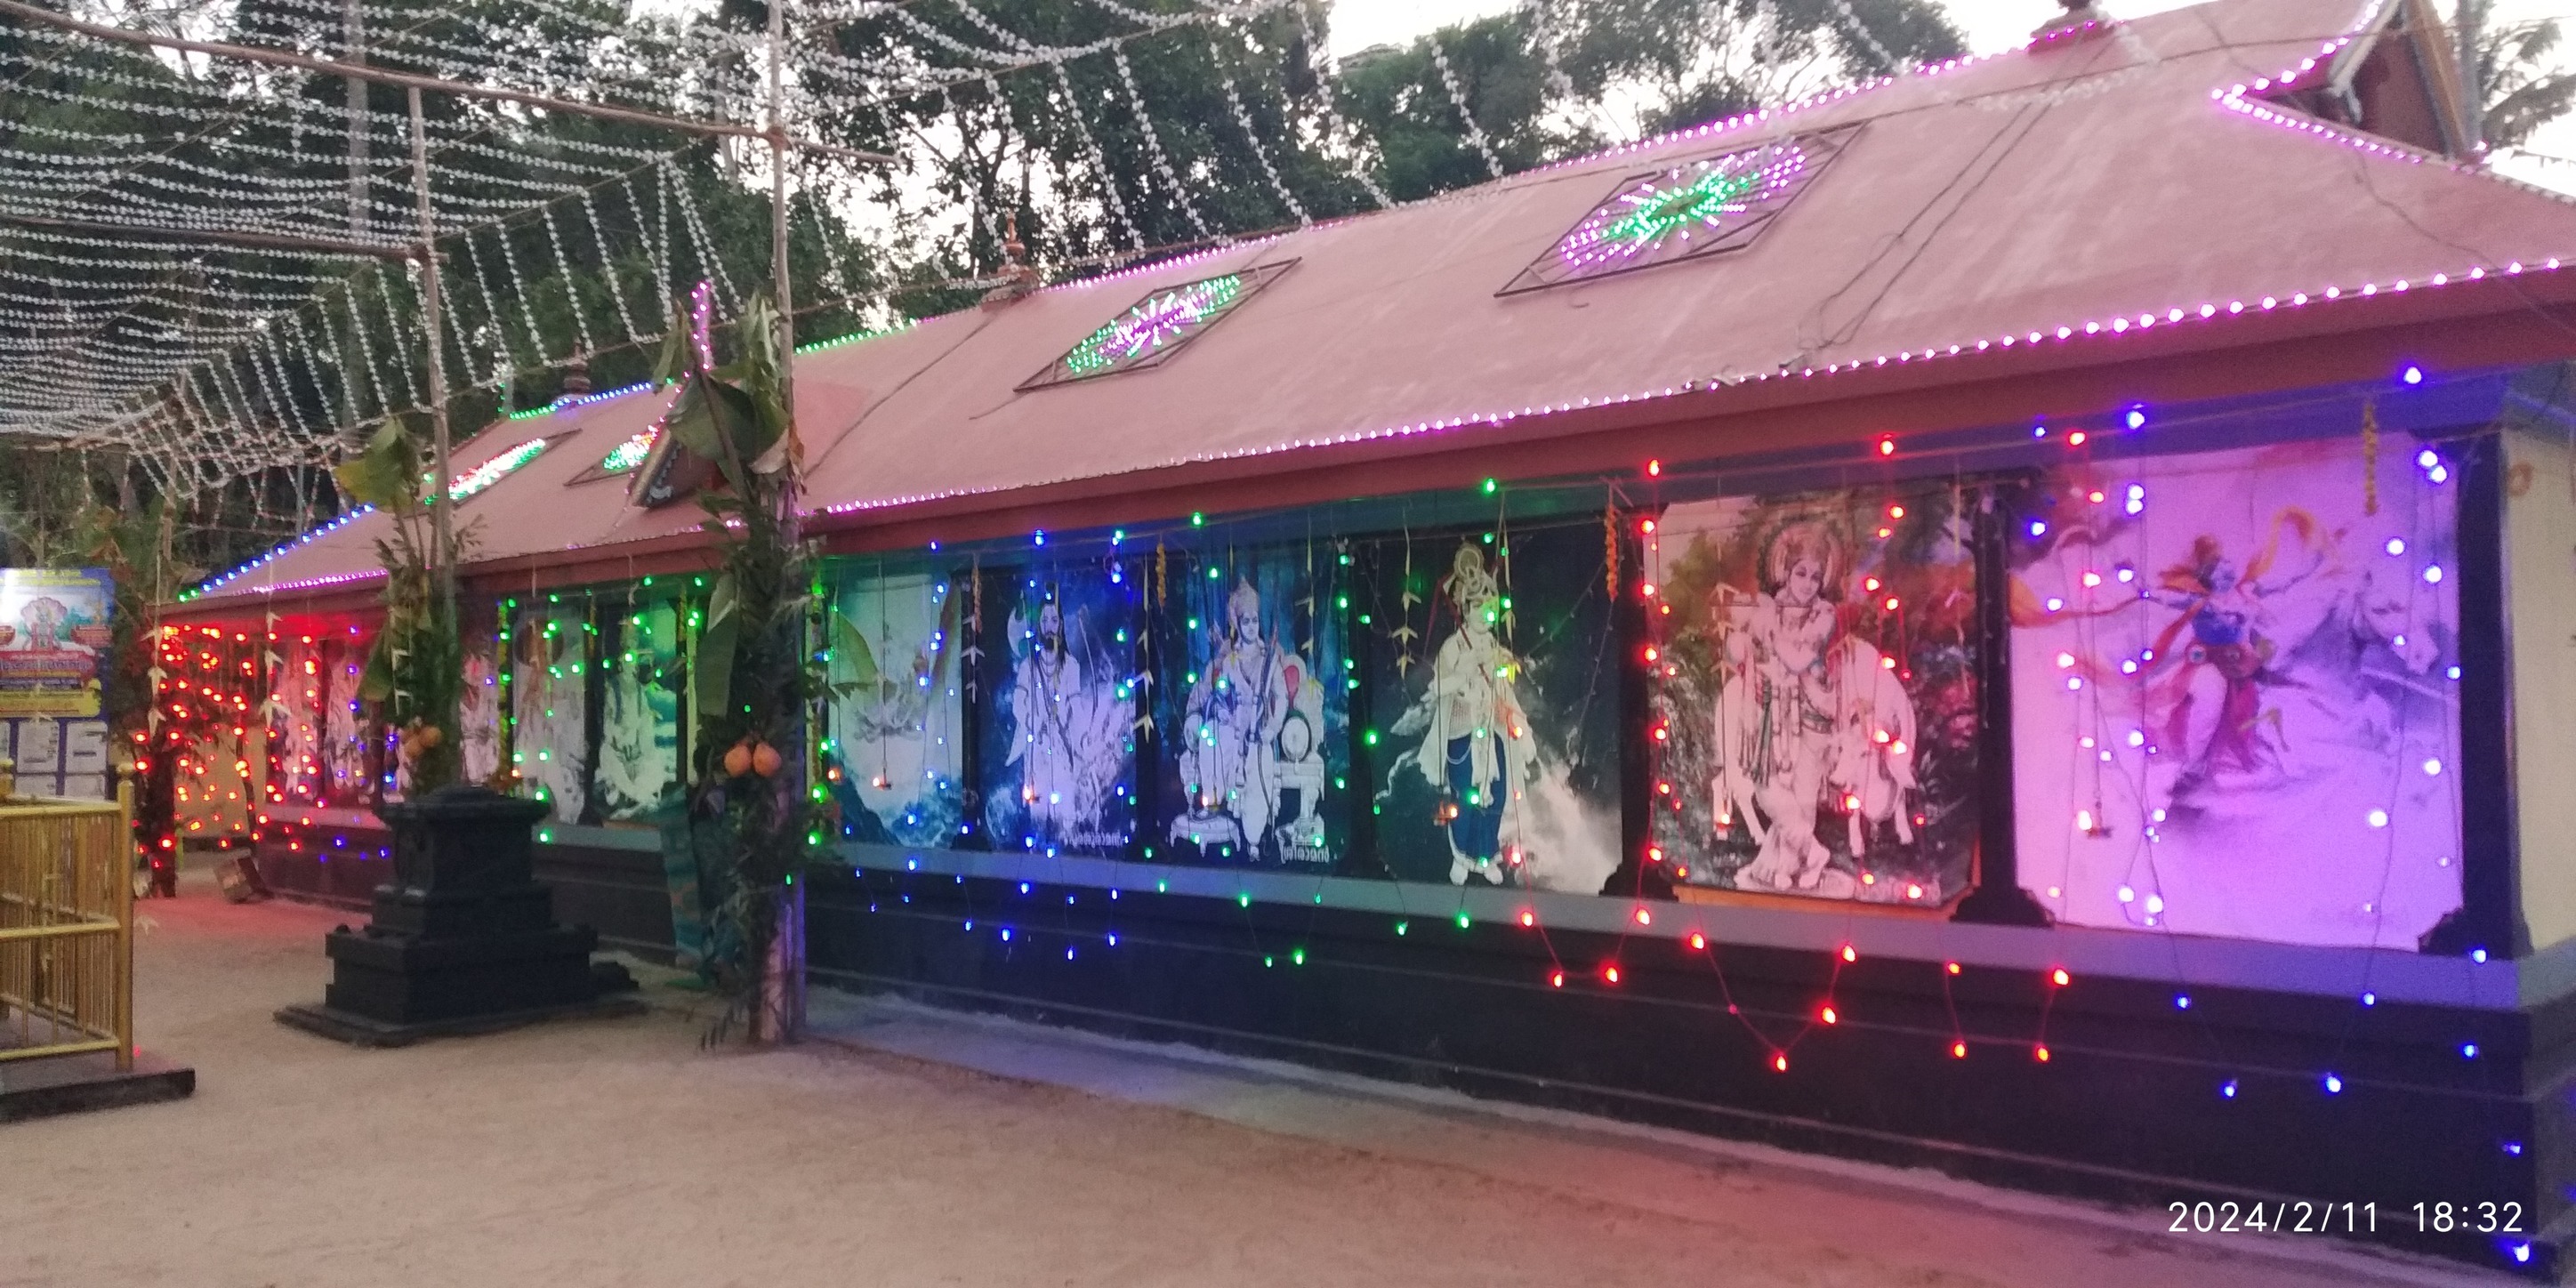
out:
M1309 72L1329 85L1334 67L1316 62L1321 41L1311 5L1239 0L1177 13L1095 5L1131 31L1059 46L956 0L943 0L940 15L963 21L974 39L914 5L822 5L791 26L791 129L884 113L889 100L909 93L969 82L992 90L997 77L1048 75L1097 173L1110 173L1110 160L1092 116L1141 147L1149 173L1200 240L1224 242L1229 229L1213 227L1164 149L1157 108L1133 75L1128 46L1198 39L1224 64L1226 46L1242 44L1252 54L1247 64L1275 67L1288 52L1267 49L1255 18L1288 8L1306 36ZM126 10L106 0L95 15L113 23ZM513 15L523 21L513 23ZM1551 3L1533 0L1528 18L1540 54L1556 67ZM853 21L889 21L920 49L896 44L871 57L842 54L835 31ZM1857 15L1844 10L1842 21L1875 46ZM765 62L762 39L744 31L608 21L556 0L515 0L510 13L438 15L399 5L286 0L263 5L258 21L234 21L229 8L214 5L183 15L175 31L312 54L340 54L355 39L379 64L701 116L752 111ZM26 33L26 49L10 67L18 75L0 82L0 93L31 108L28 129L0 147L0 216L21 216L0 224L0 250L8 252L0 322L13 325L0 353L18 358L0 379L0 433L121 446L160 487L196 492L276 466L330 464L368 425L422 410L417 270L392 270L363 255L260 250L227 240L265 232L399 242L397 232L415 216L404 116L350 108L337 95L307 95L307 75L227 67L222 59L180 64L173 75L173 62L152 52L44 26ZM933 49L940 57L925 57ZM1110 103L1084 103L1066 75L1082 59L1103 59L1123 93ZM1432 41L1432 59L1463 139L1499 175L1494 144L1440 41ZM1556 75L1564 77L1561 70ZM1229 75L1236 129L1280 209L1309 222L1242 90ZM33 111L39 106L44 111ZM49 118L75 108L82 116ZM1329 93L1321 111L1347 175L1378 206L1391 206ZM446 234L453 245L446 255L451 307L440 337L451 386L507 392L513 376L598 353L605 335L623 335L626 345L657 343L659 327L639 325L639 317L667 317L680 281L714 278L721 309L739 312L737 278L755 273L724 263L675 157L580 134L531 134L500 113L430 121L430 204L440 227L453 229ZM804 165L799 178L817 180L811 162ZM1149 250L1118 185L1108 183L1097 196L1128 247ZM979 211L979 219L992 222L994 211ZM121 234L126 227L149 237ZM526 232L515 237L513 227ZM551 263L551 278L528 278L531 265L520 263L528 252ZM639 252L652 268L652 299L631 299L623 273L600 281L572 273L572 260L585 252L598 263ZM829 255L824 278L835 286L832 299L889 314L884 296L863 299L848 289L858 273L842 260L855 252L860 247L845 245ZM572 291L564 309L569 350L549 348L538 291Z

